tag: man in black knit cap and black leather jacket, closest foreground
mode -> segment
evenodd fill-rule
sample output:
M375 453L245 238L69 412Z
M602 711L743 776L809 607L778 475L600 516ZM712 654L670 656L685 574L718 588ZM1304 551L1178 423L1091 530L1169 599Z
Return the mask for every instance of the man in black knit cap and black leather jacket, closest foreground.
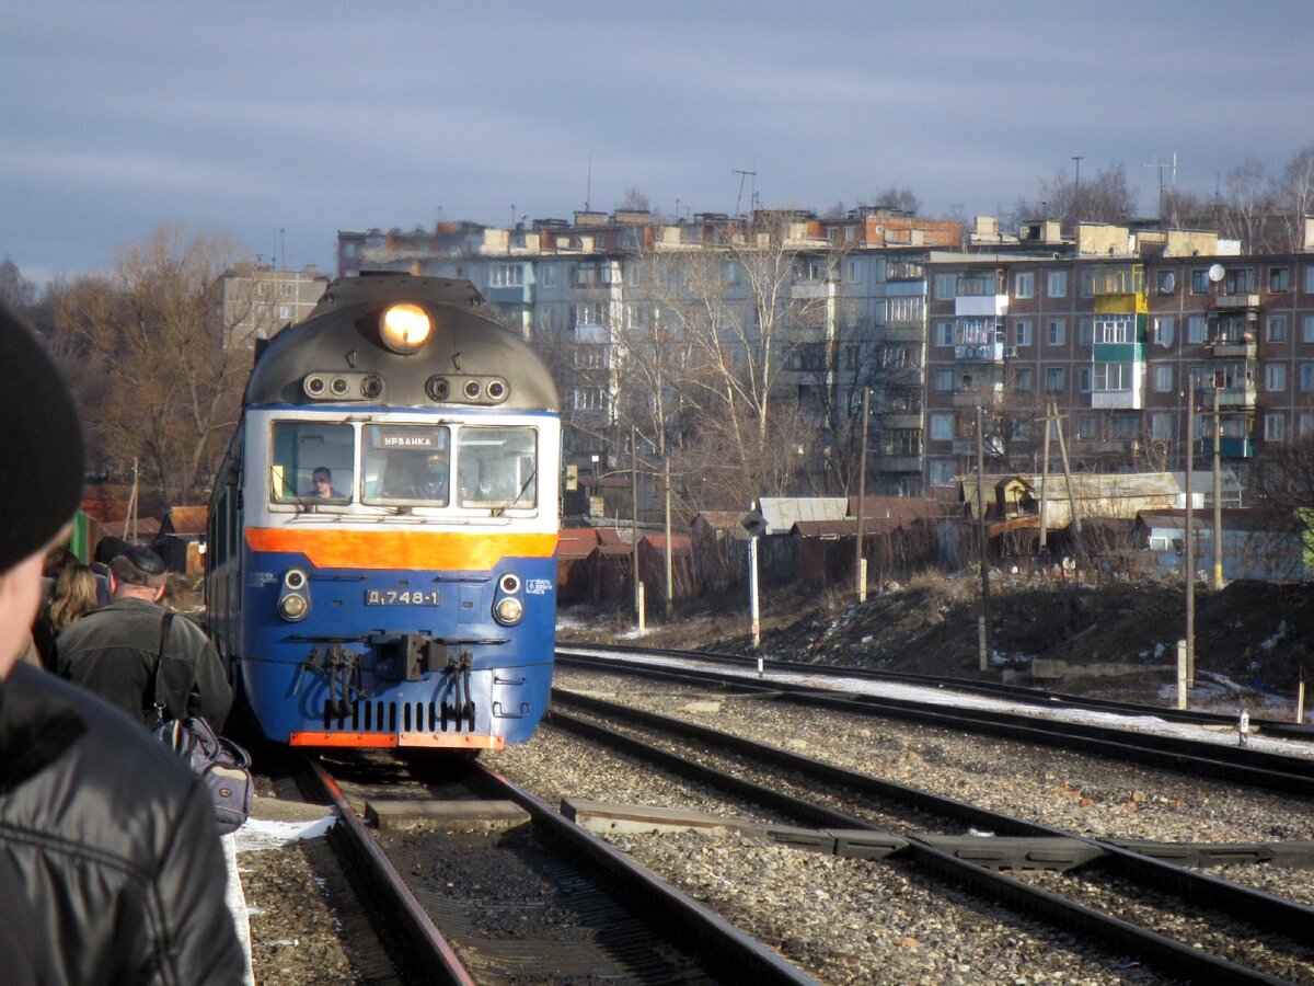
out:
M35 335L0 305L0 979L235 983L210 794L95 695L18 663L41 564L81 497L81 430Z

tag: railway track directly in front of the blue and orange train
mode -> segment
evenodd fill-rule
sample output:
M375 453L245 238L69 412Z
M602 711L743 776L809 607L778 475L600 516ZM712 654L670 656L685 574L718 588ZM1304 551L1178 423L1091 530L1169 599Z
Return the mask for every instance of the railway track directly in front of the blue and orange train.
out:
M427 982L813 982L490 770L342 768L310 769Z

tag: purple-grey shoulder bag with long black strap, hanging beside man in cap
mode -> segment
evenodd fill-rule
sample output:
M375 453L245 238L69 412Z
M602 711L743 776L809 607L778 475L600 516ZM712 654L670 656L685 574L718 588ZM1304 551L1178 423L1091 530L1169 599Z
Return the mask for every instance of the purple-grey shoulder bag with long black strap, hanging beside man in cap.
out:
M151 735L181 756L192 773L205 782L214 802L214 820L219 826L219 835L229 835L240 828L251 814L251 799L255 795L251 755L233 740L215 734L200 715L166 718L168 710L160 699L160 665L164 663L164 642L172 622L172 613L166 613L160 621L160 647L155 663L155 727Z

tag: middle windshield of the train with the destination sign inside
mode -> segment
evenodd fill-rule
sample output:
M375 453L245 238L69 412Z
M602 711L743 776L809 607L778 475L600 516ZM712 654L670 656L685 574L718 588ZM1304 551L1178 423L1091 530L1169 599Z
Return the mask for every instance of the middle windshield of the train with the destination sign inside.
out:
M447 506L451 459L445 426L367 425L361 434L365 502Z

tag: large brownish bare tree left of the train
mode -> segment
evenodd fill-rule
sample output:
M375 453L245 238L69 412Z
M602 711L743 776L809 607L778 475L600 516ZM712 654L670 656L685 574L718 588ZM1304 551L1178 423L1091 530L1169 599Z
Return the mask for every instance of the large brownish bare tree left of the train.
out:
M53 300L66 359L95 390L80 396L100 458L138 459L151 507L208 484L237 419L250 352L227 348L222 276L242 248L226 234L162 225L120 248L109 277L83 277Z

